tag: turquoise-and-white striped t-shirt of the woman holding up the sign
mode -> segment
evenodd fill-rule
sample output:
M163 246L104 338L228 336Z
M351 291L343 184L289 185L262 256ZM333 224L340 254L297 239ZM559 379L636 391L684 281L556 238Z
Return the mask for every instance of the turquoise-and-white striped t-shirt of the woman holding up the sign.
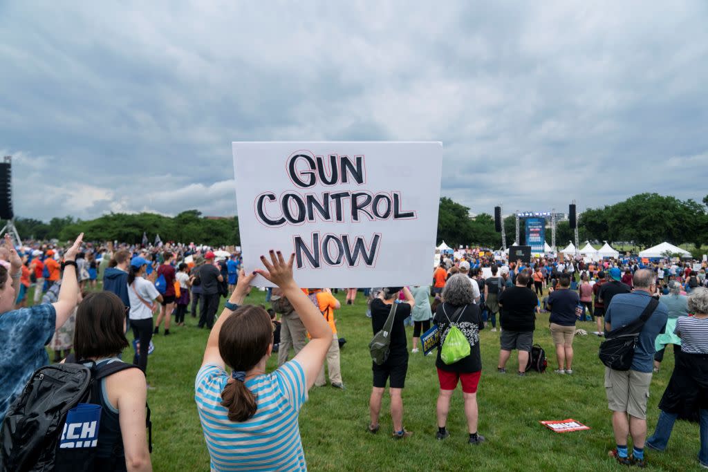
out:
M194 384L212 471L307 471L297 424L307 400L302 366L291 360L272 374L247 380L258 410L244 422L229 420L221 405L228 379L223 369L207 364Z

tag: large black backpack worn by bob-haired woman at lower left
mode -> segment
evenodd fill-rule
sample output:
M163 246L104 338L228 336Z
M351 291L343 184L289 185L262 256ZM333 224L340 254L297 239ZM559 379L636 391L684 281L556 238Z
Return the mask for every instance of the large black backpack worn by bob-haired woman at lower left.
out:
M95 363L86 367L67 362L37 369L21 396L8 410L3 422L0 433L0 470L81 472L110 471L114 467L125 470L125 462L119 464L114 458L98 461L95 440L83 444L76 441L65 447L59 447L59 444L62 436L67 439L98 438L97 425L83 423L83 428L77 424L67 425L69 410L79 403L100 404L98 395L101 388L98 386L101 379L135 367L125 362L110 362L100 367ZM152 452L149 408L147 428L149 449Z

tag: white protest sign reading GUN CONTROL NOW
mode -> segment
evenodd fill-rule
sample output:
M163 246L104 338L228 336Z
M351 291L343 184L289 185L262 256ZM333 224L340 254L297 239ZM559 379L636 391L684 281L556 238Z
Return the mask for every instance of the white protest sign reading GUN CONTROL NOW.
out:
M295 253L300 287L430 283L442 143L234 142L233 152L246 270L274 249Z

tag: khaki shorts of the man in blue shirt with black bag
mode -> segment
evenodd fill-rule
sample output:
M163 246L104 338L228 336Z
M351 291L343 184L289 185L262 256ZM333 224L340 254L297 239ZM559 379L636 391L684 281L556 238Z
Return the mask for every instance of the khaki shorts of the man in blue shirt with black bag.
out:
M605 367L607 407L612 411L626 411L634 418L646 420L649 384L651 384L651 372L613 370Z

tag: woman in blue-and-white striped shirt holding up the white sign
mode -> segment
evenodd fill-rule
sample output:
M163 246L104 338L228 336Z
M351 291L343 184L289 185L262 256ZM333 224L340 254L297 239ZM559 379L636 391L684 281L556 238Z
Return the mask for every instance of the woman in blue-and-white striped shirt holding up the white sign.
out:
M236 289L212 328L195 379L195 401L212 471L305 471L297 419L332 343L319 310L292 279L295 255L270 251L265 270L239 274ZM271 374L273 323L258 306L239 306L256 273L282 289L311 340ZM226 366L233 369L227 373Z

